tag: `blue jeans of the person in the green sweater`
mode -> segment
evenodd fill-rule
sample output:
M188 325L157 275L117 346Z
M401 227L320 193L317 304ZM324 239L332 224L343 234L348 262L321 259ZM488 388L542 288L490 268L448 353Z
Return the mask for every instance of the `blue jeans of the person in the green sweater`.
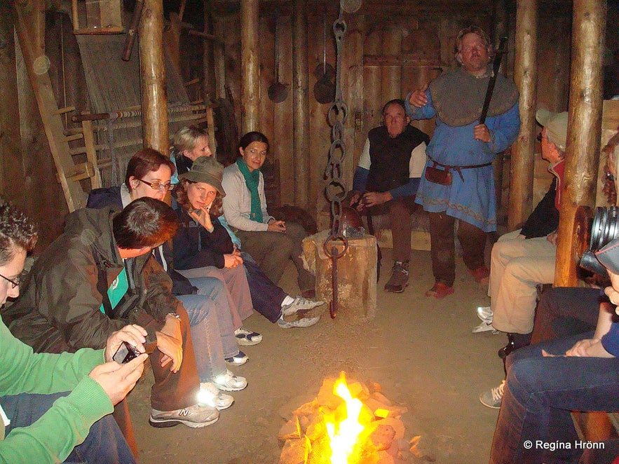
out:
M6 428L5 434L8 435L15 428L32 425L52 407L55 400L67 394L66 392L53 395L21 393L20 395L1 397L2 409L11 419L11 424ZM135 458L133 458L121 430L118 429L116 421L111 415L108 415L90 427L86 439L73 449L64 462L133 464Z

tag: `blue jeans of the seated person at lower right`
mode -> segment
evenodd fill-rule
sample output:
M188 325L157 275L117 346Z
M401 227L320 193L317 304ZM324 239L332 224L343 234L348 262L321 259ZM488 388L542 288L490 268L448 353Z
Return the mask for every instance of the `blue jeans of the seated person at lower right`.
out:
M577 447L580 441L570 412L619 411L618 358L541 354L545 349L562 355L592 335L538 343L508 356L491 464L576 463L584 450ZM555 449L543 449L542 444ZM568 445L571 449L565 449Z

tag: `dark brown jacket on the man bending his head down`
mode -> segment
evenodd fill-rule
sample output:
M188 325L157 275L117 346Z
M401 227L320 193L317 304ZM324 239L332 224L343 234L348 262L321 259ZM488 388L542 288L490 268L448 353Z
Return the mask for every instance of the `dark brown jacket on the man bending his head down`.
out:
M18 301L3 315L18 339L35 351L104 348L107 337L125 325L147 329L147 350L156 346L155 331L165 315L177 311L172 282L151 253L128 259L130 288L112 318L100 308L103 294L123 268L112 235L118 209L82 209L67 217L64 233L36 260ZM100 281L101 279L101 281Z

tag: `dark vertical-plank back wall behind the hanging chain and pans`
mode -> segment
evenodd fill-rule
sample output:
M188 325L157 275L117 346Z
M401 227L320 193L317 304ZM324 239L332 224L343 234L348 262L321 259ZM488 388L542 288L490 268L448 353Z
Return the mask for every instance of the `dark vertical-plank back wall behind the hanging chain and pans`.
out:
M310 8L308 18L308 70L310 88L310 153L311 188L309 200L315 209L323 210L327 203L323 189L323 175L331 144L331 130L327 124L329 104L318 103L313 95L317 81L315 68L322 65L322 28L327 23L327 63L336 66L335 40L332 32L338 11L334 8ZM225 31L220 37L226 56L226 84L235 101L237 122L241 121L243 102L240 102L240 24L239 12L215 15L216 30ZM381 122L381 108L393 98L404 97L409 90L419 88L440 74L440 70L454 66L453 39L458 29L475 22L489 29L491 18L483 13L469 16L433 15L418 18L414 15L384 17L376 20L367 12L345 14L347 32L343 45L341 88L348 104L345 127L346 158L343 162L348 188L352 187L355 166L367 137L367 132ZM274 81L275 14L262 8L259 24L260 59L260 128L271 142L269 156L280 163L282 203L293 199L292 159L292 93L286 100L273 103L268 99L268 86ZM292 83L292 35L290 11L278 16L278 44L280 53L280 82ZM433 121L419 121L415 125L429 134Z

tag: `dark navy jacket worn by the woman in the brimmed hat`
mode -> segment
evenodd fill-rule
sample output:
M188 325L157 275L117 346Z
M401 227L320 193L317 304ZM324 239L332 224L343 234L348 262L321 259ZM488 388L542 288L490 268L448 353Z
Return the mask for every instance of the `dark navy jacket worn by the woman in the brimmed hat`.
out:
M172 208L181 221L181 226L172 239L174 267L182 270L205 266L224 268L224 254L232 253L234 247L228 231L219 219L211 217L214 230L209 232L194 221L177 201L172 201Z

